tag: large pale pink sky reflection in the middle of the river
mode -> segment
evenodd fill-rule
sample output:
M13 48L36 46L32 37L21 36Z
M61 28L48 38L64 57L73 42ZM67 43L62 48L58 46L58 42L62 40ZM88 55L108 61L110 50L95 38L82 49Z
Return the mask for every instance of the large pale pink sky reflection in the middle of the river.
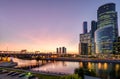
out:
M74 73L74 69L79 67L77 62L61 62L57 61L54 63L46 64L42 67L33 68L36 71L50 71L50 72L62 72L62 73Z

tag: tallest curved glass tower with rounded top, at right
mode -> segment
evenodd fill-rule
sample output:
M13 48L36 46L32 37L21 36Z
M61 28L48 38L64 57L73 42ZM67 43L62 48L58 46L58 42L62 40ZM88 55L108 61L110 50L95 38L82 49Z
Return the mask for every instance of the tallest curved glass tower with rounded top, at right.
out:
M107 3L97 10L95 32L96 53L112 53L113 41L118 37L117 12L114 3Z

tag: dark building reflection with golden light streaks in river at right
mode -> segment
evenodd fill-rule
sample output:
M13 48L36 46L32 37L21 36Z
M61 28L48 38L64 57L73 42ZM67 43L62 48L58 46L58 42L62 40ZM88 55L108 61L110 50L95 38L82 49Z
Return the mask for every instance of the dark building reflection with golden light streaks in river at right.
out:
M102 79L116 79L120 74L120 64L115 63L79 62L79 67L93 70Z

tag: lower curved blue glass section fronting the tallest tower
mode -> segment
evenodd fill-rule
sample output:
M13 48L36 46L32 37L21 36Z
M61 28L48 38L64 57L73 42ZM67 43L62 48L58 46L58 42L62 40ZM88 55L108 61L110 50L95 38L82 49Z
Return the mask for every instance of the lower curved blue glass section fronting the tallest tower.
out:
M96 52L97 53L111 53L112 47L113 47L113 27L106 26L103 28L100 28L95 33L95 40L96 40Z

